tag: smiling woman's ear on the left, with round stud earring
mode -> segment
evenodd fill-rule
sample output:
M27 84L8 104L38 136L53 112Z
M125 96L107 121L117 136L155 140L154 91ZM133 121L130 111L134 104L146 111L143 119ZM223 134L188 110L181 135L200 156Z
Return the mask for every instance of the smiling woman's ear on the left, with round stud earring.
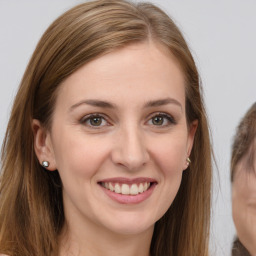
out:
M34 135L34 150L39 163L48 161L49 166L46 168L49 171L56 170L56 162L50 132L42 126L39 120L33 119L32 130Z

